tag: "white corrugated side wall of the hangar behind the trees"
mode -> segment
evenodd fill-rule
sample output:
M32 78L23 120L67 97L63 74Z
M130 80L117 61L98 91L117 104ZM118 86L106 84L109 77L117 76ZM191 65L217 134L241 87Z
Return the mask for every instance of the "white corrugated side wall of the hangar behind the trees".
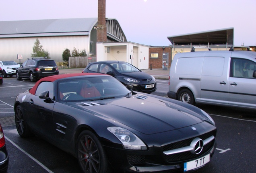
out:
M81 51L86 50L89 55L89 36L53 36L53 37L29 37L29 38L1 38L0 39L0 60L17 60L17 54L23 55L24 62L31 57L36 38L39 39L43 49L50 53L50 58L56 62L62 62L62 53L68 48L71 51L74 47Z

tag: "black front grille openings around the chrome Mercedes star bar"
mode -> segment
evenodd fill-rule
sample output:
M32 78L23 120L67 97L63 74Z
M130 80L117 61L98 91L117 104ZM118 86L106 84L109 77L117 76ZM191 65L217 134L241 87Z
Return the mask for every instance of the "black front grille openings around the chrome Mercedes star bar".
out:
M200 135L198 137L202 140L205 140L205 139L208 139L211 136L216 137L216 131L211 131L209 133L205 133L205 134ZM175 142L175 143L165 145L165 146L163 146L163 151L169 151L169 150L179 149L179 148L182 148L182 147L189 146L190 143L195 138L196 137L193 137L193 138L190 138L190 139L185 139L183 141L179 141L179 142ZM177 161L184 161L184 160L188 160L188 159L193 159L195 157L199 157L200 155L204 155L206 152L208 152L213 147L214 143L215 143L215 139L213 141L207 143L206 145L204 145L202 151L198 155L192 154L190 151L186 151L186 152L182 152L182 153L164 155L164 157L165 157L165 160L167 162L177 162Z

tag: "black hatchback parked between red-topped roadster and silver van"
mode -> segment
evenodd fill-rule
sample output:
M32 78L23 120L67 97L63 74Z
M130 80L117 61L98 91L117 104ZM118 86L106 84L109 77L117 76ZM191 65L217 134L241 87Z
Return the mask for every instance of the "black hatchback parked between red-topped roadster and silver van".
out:
M82 72L105 73L115 77L133 91L152 93L157 89L155 77L142 72L132 64L124 61L91 62Z

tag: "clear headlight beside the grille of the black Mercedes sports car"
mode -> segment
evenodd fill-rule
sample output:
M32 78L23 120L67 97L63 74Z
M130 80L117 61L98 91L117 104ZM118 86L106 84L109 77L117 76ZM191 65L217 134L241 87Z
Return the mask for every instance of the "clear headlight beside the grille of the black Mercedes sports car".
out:
M136 135L122 127L108 127L111 133L113 133L124 145L124 149L131 150L147 150L147 146Z

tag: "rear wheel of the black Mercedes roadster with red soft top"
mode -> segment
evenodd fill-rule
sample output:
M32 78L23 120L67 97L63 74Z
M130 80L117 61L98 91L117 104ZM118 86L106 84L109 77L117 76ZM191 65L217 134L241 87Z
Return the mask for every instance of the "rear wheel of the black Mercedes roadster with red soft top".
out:
M18 105L15 109L15 125L21 137L29 137L33 135L29 130L26 120L24 119L23 109L21 105Z

